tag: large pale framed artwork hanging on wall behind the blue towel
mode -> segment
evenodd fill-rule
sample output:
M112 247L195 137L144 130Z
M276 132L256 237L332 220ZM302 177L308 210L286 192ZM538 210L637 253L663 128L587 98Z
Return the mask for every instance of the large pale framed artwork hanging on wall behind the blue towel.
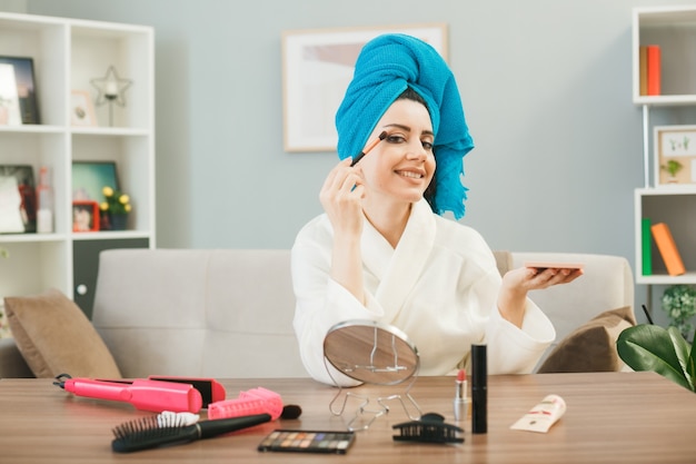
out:
M336 150L334 124L355 62L369 40L400 32L430 43L447 59L447 24L286 31L282 34L286 151Z

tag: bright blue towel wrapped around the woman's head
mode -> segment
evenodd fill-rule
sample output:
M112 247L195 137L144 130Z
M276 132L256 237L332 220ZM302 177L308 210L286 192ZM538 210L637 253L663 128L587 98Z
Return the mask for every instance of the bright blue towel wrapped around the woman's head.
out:
M427 102L435 132L436 192L432 209L464 216L467 189L463 157L474 148L455 77L431 46L415 37L389 33L360 51L352 81L336 113L338 156L359 154L385 111L407 87Z

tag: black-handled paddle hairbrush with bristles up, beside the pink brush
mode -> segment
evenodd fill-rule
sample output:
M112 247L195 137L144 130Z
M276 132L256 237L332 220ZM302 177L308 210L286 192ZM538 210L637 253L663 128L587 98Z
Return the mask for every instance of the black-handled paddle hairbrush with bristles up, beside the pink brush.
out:
M130 453L163 445L173 445L210 438L241 428L251 427L270 421L269 414L201 421L192 425L175 418L162 423L158 416L143 417L123 423L113 428L116 438L111 450L117 453Z

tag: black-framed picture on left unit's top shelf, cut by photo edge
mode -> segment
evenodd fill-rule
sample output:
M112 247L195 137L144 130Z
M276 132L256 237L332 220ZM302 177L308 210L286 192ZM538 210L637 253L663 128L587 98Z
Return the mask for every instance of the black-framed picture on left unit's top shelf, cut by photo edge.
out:
M40 124L32 58L0 56L0 98L8 95L12 86L19 103L18 124ZM0 107L3 106L2 101L0 100ZM1 119L2 115L0 124ZM12 118L10 120L8 125L14 125L16 120Z

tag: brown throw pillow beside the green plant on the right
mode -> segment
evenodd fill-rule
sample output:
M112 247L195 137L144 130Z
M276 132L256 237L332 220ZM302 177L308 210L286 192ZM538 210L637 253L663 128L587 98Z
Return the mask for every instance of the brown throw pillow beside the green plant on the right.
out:
M636 318L630 306L601 313L565 337L537 372L620 371L623 362L616 351L616 339L634 325Z

